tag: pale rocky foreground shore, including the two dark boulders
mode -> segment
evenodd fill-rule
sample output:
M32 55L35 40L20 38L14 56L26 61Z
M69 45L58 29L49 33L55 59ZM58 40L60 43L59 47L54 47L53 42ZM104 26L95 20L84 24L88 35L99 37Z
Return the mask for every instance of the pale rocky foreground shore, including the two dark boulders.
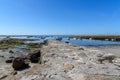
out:
M0 80L120 80L120 55L54 40L34 46L25 55L1 55Z

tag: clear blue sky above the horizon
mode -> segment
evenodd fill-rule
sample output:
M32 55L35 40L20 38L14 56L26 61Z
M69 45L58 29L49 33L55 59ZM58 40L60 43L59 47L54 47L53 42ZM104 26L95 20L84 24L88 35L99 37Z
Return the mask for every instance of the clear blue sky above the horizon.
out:
M120 34L120 0L0 0L6 34Z

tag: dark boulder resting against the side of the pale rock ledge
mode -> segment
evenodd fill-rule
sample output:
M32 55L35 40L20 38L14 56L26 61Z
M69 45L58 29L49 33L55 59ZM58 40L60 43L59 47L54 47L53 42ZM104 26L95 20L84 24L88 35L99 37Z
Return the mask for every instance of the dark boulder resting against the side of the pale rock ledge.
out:
M40 57L41 57L40 50L36 50L36 51L28 54L28 58L30 59L30 61L32 63L38 63L40 60Z

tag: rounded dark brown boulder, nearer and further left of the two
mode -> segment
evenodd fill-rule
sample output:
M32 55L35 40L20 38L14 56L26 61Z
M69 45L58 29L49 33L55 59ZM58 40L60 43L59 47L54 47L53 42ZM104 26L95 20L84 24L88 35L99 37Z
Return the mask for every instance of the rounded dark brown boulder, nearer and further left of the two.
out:
M14 68L14 70L21 70L21 69L28 68L29 65L24 61L24 59L17 57L13 60L12 67Z

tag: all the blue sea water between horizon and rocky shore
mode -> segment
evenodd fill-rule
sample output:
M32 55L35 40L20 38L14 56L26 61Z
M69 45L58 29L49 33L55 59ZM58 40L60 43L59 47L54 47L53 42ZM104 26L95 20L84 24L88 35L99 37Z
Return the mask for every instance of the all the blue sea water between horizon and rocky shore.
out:
M70 44L81 45L81 46L105 46L105 45L120 45L120 42L113 42L113 41L102 41L102 40L89 40L89 39L73 39L70 38L69 40L65 37L70 35L19 35L19 36L10 36L10 38L20 38L20 39L34 39L28 40L26 43L42 43L44 40L55 40L58 37L61 37L61 42L69 42ZM4 36L0 38L3 39Z

